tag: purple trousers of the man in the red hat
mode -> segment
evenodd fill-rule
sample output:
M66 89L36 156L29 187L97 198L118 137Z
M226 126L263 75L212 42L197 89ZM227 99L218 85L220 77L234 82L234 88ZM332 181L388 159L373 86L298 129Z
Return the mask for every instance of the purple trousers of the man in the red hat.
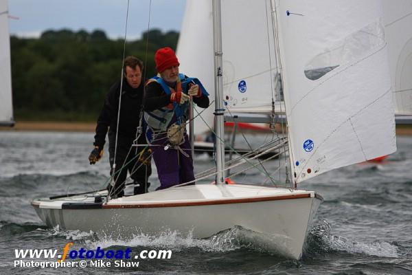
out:
M165 134L161 134L155 137L151 146L160 181L160 187L157 190L194 180L192 151L187 134L180 148L188 157L172 147L165 150L167 144L169 144L168 138Z

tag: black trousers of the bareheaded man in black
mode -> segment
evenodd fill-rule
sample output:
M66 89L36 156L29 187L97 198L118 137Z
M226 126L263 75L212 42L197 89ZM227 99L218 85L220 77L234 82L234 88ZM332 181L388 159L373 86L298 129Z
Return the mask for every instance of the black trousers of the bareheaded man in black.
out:
M139 144L146 144L146 138L144 135L139 138ZM113 175L113 163L116 163L115 167L115 186L108 190L111 192L111 196L116 195L117 197L122 197L124 194L124 186L129 173L130 178L133 179L135 184L139 184L141 188L147 192L148 188L148 177L152 174L152 167L150 163L148 165L141 164L138 161L139 153L144 150L145 146L133 146L133 140L135 137L119 135L117 137L117 148L116 135L115 133L108 134L108 155L109 162L111 166L111 175ZM115 149L117 150L115 154ZM116 159L115 159L116 157ZM136 192L135 192L136 193Z

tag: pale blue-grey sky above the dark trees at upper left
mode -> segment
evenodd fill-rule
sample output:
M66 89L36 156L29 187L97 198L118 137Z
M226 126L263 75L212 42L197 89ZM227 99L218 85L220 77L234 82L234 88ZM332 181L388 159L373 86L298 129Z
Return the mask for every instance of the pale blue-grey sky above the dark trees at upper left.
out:
M0 0L7 1L7 0ZM10 34L38 36L45 30L100 29L112 39L124 37L128 0L8 0ZM130 0L127 38L148 29L150 0ZM152 0L150 28L181 29L185 0Z

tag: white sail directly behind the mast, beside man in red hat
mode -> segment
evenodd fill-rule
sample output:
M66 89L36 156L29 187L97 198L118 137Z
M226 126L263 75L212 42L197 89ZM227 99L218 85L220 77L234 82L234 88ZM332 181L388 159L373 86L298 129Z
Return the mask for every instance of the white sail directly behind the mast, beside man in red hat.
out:
M266 0L222 0L223 94L233 113L284 113L279 102L271 3ZM176 51L181 72L202 80L214 100L213 22L210 0L187 0ZM202 114L213 126L214 109ZM194 112L196 115L196 111ZM209 131L194 120L195 134Z

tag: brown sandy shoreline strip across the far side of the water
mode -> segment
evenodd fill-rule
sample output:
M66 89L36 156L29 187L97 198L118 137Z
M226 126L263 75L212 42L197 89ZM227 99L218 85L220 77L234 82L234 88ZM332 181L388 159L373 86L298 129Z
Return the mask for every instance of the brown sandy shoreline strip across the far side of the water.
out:
M19 121L0 131L94 132L95 128L96 122ZM412 135L412 125L397 125L396 135Z

